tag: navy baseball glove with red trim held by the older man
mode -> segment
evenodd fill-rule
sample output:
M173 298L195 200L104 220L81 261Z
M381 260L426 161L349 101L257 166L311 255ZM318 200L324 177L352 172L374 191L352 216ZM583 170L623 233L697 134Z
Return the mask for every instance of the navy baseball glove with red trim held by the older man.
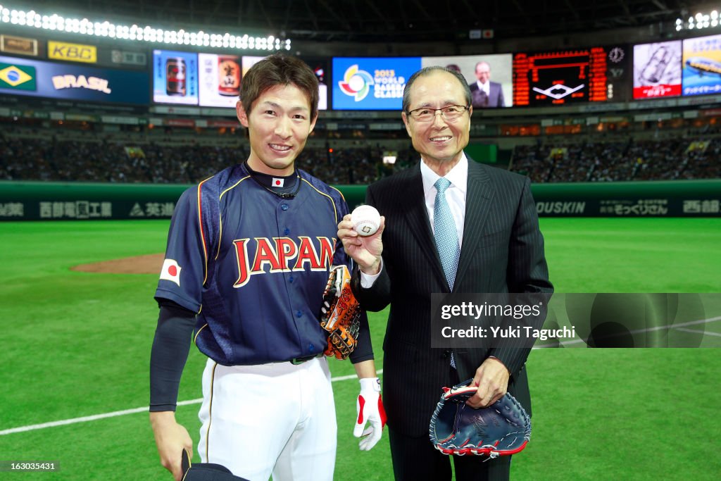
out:
M531 439L531 418L506 393L489 407L474 409L466 400L476 393L472 379L444 387L430 418L430 442L443 454L477 454L496 458L516 454Z

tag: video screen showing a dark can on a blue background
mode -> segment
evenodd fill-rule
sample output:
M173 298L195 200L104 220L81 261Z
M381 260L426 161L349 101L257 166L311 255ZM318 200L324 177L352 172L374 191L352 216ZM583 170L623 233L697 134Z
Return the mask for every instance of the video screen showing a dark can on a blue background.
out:
M153 50L153 101L198 105L198 54Z

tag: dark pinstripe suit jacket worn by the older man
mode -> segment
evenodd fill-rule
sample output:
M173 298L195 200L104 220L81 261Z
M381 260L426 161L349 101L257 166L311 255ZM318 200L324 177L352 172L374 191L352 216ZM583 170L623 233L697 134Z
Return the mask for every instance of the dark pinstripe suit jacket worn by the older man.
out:
M454 292L552 292L527 177L469 159L466 216ZM386 216L384 268L358 300L369 311L391 305L384 340L384 405L388 423L407 436L428 435L430 415L450 386L448 351L430 348L430 294L448 283L425 209L420 164L373 183L366 203ZM531 412L524 364L530 349L454 350L461 380L488 356L510 370L508 391Z

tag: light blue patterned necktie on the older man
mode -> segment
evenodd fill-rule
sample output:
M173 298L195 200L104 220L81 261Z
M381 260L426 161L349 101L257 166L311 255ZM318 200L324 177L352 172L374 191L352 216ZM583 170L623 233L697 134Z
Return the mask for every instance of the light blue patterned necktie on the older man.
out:
M450 185L451 181L445 177L440 177L435 181L434 187L437 192L435 193L435 204L433 205L433 235L435 236L435 247L438 249L438 256L441 257L443 273L446 274L448 287L453 291L456 270L458 270L458 260L461 257L461 248L458 242L456 222L446 200L446 189Z

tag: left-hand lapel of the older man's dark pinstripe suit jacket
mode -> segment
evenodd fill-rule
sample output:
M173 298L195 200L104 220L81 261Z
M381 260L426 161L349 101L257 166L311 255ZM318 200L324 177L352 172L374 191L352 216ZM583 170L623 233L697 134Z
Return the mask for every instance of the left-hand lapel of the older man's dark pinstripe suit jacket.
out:
M448 288L446 274L443 273L441 257L438 257L438 250L435 248L433 230L430 229L428 212L425 210L425 194L423 193L423 179L420 175L420 164L414 167L412 175L408 177L406 185L399 186L403 193L402 203L405 217L412 231L413 237L420 244L421 250L428 257L429 265L433 268L435 276L442 280Z

